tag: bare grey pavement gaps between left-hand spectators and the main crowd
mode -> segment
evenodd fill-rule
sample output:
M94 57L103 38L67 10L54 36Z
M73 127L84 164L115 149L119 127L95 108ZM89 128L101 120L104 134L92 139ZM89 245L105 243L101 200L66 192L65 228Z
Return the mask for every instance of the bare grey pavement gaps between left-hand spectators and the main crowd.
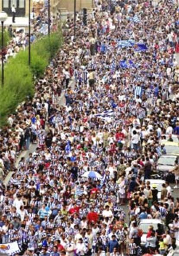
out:
M72 90L74 89L74 80L72 80L70 82L70 87L72 88ZM61 93L61 96L59 97L59 105L61 106L65 106L65 96L64 96L64 92ZM25 159L27 159L27 157L29 156L29 153L33 153L35 151L37 147L37 144L30 144L29 150L25 150L23 151L17 158L15 166L17 168L19 161L21 160L22 157L25 157ZM5 186L7 186L8 182L10 181L12 175L14 172L10 171L6 178L4 179L3 183Z

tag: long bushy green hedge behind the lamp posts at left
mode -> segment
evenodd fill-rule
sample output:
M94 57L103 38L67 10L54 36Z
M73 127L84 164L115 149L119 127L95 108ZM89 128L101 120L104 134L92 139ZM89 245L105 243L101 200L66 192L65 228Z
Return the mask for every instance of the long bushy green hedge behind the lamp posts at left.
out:
M34 77L44 74L46 66L63 43L61 30L51 33L32 44L31 65L28 65L28 49L20 51L8 60L4 69L4 86L0 86L0 127L7 124L7 116L27 97L34 95ZM1 81L1 70L0 70Z

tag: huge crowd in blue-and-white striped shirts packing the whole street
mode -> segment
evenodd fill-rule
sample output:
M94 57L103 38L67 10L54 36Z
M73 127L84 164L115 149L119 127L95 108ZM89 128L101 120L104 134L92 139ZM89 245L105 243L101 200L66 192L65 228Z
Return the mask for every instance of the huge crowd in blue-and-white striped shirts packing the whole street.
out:
M165 182L159 200L145 180L166 153L163 134L179 135L178 3L97 0L83 21L77 14L74 35L67 19L33 100L1 131L0 175L14 174L1 185L0 243L16 241L16 256L167 255L179 198ZM177 162L173 172L177 181ZM164 224L150 225L142 246L143 219Z

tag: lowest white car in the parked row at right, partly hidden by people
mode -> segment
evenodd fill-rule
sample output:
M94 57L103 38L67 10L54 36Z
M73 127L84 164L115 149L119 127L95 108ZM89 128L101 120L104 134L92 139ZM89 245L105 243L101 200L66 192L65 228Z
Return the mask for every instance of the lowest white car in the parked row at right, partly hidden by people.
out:
M147 232L148 227L153 226L153 230L158 229L158 224L162 225L163 233L165 232L165 224L161 219L141 219L138 225L138 228L143 231L143 235L141 236L141 246L145 246L147 243Z

